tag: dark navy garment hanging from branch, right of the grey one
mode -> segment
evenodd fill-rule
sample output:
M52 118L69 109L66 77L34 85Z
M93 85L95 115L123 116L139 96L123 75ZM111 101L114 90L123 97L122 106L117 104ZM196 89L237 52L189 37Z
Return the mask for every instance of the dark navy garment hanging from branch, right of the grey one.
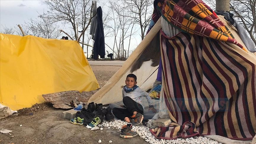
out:
M95 41L93 45L93 59L97 60L98 55L100 55L100 58L105 58L105 39L101 7L97 8L97 29L94 38Z

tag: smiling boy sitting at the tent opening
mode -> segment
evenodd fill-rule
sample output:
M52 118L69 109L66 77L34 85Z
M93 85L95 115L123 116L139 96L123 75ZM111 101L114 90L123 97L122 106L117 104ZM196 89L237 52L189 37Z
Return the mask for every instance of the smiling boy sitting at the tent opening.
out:
M122 107L125 108L113 108L113 114L121 120L131 122L131 119L134 119L134 126L140 124L144 118L143 111L144 105L142 104L142 97L146 97L148 100L149 109L156 112L156 109L153 106L151 97L149 94L141 90L137 84L137 77L134 74L128 74L125 80L125 86L122 89L123 94L123 103Z

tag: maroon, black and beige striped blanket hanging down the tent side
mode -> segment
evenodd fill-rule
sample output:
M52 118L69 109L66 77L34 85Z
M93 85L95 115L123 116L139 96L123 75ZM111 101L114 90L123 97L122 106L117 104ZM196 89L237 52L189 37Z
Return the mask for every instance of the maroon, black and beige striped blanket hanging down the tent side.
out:
M172 121L192 121L202 135L252 139L255 64L215 40L185 33L161 33L161 52L161 93Z

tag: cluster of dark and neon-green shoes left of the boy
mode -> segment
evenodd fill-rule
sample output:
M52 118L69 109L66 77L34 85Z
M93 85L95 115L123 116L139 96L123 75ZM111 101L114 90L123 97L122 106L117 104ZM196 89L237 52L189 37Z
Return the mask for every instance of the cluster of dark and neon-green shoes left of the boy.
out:
M103 108L102 103L94 104L89 103L86 108L82 108L81 111L76 112L74 119L71 119L72 124L89 125L90 127L96 127L103 122L105 116L106 121L113 121L114 115L110 107Z

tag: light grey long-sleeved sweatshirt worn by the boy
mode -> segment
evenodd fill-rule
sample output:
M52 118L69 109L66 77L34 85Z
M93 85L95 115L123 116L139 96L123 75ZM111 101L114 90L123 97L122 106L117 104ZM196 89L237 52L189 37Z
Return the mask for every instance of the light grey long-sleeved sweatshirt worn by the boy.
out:
M131 92L125 92L124 89L122 89L122 94L123 94L123 98L124 97L131 97L135 102L140 103L143 107L143 109L145 108L144 105L142 104L142 98L141 97L146 97L146 99L148 100L148 105L153 105L153 102L151 100L151 97L149 96L149 94L147 92L145 92L144 90L140 89L140 87L136 88L135 90L131 91Z

